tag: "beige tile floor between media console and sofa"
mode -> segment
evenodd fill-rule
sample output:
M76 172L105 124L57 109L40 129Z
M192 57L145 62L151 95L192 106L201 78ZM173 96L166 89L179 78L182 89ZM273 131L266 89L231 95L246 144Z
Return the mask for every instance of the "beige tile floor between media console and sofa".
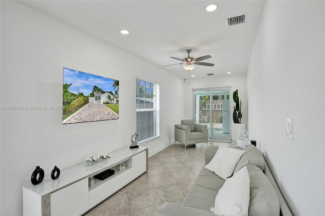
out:
M207 145L229 143L198 143L187 146L186 152L176 143L150 157L147 172L84 215L156 215L164 202L182 203L204 165Z

